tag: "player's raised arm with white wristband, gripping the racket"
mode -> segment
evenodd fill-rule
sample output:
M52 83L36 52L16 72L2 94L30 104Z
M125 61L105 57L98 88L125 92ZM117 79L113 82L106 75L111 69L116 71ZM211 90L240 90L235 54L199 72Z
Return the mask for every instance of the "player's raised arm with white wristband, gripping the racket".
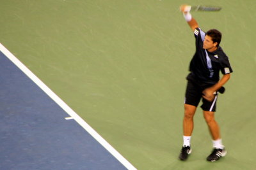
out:
M183 13L185 20L188 22L189 27L191 27L192 31L195 31L196 28L198 28L198 24L196 20L192 17L191 13L189 11L191 10L191 6L182 4L180 6L180 11Z

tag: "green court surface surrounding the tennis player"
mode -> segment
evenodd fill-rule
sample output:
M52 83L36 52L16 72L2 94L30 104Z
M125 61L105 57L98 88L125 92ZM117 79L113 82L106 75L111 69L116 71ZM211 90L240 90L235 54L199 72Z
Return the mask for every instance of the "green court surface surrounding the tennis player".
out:
M216 120L227 156L207 162L211 138L198 108L193 153L180 162L184 90L195 52L183 3L200 27L223 33L234 70ZM1 1L0 42L138 169L255 169L254 0Z

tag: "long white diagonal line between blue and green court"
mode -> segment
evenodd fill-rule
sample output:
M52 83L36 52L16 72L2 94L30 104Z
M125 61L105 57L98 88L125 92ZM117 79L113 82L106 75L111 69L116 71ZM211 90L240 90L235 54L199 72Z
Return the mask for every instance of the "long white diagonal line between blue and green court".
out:
M119 160L127 169L136 169L128 160L126 160L120 153L118 153L115 148L113 148L109 143L102 138L90 125L88 125L84 120L77 115L75 111L73 111L64 101L60 99L54 92L52 92L47 85L45 85L39 78L36 77L34 73L32 73L28 67L26 67L22 62L20 62L17 57L15 57L9 50L7 50L1 43L0 43L0 51L10 59L13 64L15 64L23 73L25 73L40 89L42 89L53 101L55 101L64 111L70 115L71 118L74 118L76 122L81 125L89 134L95 138L100 145L104 146L108 152L110 152L117 160Z

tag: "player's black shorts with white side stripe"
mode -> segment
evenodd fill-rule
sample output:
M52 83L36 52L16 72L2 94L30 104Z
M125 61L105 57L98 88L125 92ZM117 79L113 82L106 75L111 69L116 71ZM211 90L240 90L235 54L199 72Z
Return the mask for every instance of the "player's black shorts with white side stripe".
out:
M190 104L193 106L198 106L200 100L202 99L202 110L204 111L216 111L216 102L218 97L218 92L216 93L213 101L207 101L202 97L202 92L204 89L207 89L208 87L211 87L211 85L203 85L200 86L193 81L188 80L186 94L185 94L185 100L184 104Z

